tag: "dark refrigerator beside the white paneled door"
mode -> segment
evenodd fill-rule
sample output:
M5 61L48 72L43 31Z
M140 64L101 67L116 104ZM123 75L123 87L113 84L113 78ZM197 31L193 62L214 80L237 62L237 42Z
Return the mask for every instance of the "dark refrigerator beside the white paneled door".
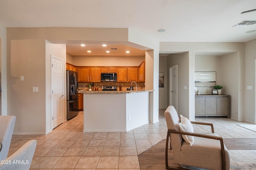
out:
M78 112L78 72L67 70L67 119L76 116Z

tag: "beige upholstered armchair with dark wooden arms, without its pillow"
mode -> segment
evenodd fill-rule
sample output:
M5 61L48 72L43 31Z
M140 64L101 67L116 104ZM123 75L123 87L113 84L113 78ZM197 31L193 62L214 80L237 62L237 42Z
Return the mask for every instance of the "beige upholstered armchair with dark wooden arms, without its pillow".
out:
M180 165L194 166L212 170L229 170L230 156L226 149L222 137L214 133L212 123L200 123L191 121L194 124L210 125L212 133L191 133L180 131L178 113L173 106L169 106L164 112L168 133L166 137L166 169L180 169L168 165L168 141L170 139L170 149L174 156L174 162ZM182 135L194 136L194 143L190 147Z

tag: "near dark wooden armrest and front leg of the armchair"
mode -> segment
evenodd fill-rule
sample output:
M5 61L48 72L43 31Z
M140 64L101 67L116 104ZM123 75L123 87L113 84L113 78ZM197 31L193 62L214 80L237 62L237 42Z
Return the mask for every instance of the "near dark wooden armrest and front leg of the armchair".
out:
M183 131L175 131L175 130L168 129L168 133L167 133L167 137L168 138L166 140L169 140L170 133L176 133L176 134L181 134L181 135L190 135L190 136L196 136L196 137L202 137L202 138L219 140L220 141L221 160L222 160L222 170L226 170L226 157L225 157L225 149L224 149L224 143L223 143L222 137L216 137L216 136L211 136L211 135L204 135L204 134L200 134L200 133L190 133L190 132L183 132Z

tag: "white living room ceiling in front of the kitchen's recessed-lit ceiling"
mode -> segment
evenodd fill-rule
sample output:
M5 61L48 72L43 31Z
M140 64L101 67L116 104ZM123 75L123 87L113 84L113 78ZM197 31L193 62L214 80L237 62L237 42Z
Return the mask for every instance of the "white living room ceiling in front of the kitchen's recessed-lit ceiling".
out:
M6 27L130 28L171 42L246 42L256 38L256 0L0 0ZM159 33L158 29L166 29Z

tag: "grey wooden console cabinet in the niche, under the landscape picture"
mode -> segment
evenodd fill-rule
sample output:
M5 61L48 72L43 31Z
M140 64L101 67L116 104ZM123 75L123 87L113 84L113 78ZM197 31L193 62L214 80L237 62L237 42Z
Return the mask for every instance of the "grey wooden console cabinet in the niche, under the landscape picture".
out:
M230 96L196 95L195 116L226 116L230 118Z

